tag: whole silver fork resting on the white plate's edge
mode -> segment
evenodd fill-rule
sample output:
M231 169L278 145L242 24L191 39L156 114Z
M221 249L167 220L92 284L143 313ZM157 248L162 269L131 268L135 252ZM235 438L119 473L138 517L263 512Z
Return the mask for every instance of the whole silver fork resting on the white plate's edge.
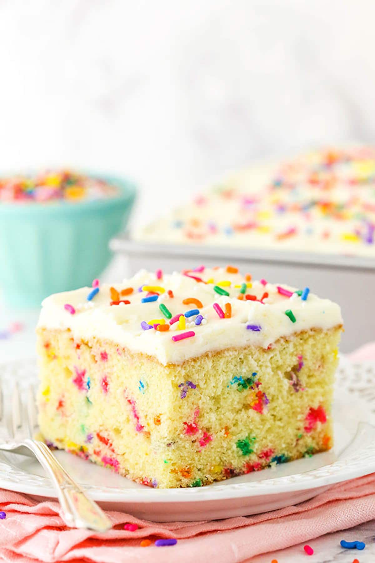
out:
M38 459L55 486L62 517L70 528L109 530L112 525L98 504L84 493L70 477L44 442L34 440L38 430L37 407L33 387L28 388L26 405L21 402L19 386L15 383L11 400L4 408L4 393L0 387L0 450ZM25 408L26 407L26 408ZM26 415L26 416L25 416ZM25 421L26 418L26 421Z

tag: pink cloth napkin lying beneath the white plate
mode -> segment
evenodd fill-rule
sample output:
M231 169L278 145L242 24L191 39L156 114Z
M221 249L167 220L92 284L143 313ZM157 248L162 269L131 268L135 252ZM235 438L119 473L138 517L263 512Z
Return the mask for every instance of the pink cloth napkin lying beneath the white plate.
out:
M375 343L350 359L375 358ZM264 514L219 521L156 524L121 512L108 512L114 525L105 534L66 528L58 503L35 502L0 489L0 558L4 561L60 563L240 563L249 558L310 542L329 532L375 519L375 473L333 486L317 497ZM136 531L124 524L139 526ZM144 538L151 546L140 547ZM177 538L171 547L156 547L158 538ZM304 553L301 553L304 556Z

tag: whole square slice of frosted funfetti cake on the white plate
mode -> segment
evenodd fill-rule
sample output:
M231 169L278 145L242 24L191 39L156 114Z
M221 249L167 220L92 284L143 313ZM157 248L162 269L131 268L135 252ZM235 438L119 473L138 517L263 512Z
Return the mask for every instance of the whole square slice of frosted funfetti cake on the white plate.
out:
M331 448L336 303L232 266L94 286L43 302L48 444L162 488Z

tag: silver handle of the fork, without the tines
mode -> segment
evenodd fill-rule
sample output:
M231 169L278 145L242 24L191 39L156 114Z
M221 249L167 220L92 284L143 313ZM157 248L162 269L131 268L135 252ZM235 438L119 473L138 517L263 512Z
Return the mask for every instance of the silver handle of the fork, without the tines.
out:
M23 444L34 453L40 465L51 477L60 502L62 518L69 528L87 528L95 531L112 528L111 521L100 506L87 497L46 444L30 439L24 440Z

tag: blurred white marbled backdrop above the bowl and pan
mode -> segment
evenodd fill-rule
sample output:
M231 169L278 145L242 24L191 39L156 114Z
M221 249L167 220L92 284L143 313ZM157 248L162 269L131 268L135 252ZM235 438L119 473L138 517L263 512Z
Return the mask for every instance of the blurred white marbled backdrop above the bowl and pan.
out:
M136 220L257 157L375 137L373 0L0 0L1 168L141 184Z

